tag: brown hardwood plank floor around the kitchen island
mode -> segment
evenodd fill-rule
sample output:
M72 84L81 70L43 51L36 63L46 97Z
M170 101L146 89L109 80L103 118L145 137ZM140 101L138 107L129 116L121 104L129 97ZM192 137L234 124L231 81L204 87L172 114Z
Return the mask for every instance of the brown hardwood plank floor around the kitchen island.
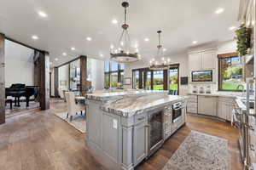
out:
M84 134L56 117L66 111L60 100L52 100L49 111L21 111L9 116L0 126L0 169L105 169L84 144ZM161 169L191 130L229 140L230 169L241 169L237 129L229 123L188 116L187 124L175 133L154 156L143 161L138 170Z

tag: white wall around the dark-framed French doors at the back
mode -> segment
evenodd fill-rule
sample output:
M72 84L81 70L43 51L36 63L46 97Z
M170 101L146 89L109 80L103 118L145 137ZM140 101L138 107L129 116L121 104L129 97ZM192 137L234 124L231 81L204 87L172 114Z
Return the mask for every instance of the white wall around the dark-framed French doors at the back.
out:
M188 77L188 54L187 52L173 54L172 56L166 56L171 59L171 64L179 63L179 77ZM145 59L146 60L146 59ZM125 77L132 78L132 70L137 68L148 67L149 62L138 61L137 63L125 64ZM132 88L132 85L125 85L125 88ZM181 95L188 93L188 86L180 86L179 92Z

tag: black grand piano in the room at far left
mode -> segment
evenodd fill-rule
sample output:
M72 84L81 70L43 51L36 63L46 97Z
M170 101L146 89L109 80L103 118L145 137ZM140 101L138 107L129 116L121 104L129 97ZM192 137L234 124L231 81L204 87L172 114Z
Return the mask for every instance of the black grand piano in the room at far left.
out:
M15 98L15 106L20 107L20 98L26 98L26 107L29 106L29 100L32 96L34 99L38 99L39 87L38 86L26 86L25 84L12 84L10 88L5 88L5 98L8 96Z

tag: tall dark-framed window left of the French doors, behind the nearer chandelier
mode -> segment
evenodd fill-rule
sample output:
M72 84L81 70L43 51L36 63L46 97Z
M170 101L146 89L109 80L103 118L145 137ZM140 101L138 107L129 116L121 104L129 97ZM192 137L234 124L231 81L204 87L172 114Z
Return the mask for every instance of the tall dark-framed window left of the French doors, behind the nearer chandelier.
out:
M124 64L105 61L105 88L124 88Z

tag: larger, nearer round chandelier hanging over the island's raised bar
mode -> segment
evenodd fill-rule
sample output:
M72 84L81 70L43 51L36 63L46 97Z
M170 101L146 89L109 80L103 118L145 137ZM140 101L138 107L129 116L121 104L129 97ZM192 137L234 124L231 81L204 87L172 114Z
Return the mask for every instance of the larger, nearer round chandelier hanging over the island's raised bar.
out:
M132 53L132 51L136 51L135 48L131 48L130 36L128 33L129 25L126 23L126 8L129 7L128 2L123 2L122 6L125 8L125 23L122 25L122 33L119 37L119 45L118 48L111 48L110 58L117 63L133 63L139 60L139 55L137 52Z

